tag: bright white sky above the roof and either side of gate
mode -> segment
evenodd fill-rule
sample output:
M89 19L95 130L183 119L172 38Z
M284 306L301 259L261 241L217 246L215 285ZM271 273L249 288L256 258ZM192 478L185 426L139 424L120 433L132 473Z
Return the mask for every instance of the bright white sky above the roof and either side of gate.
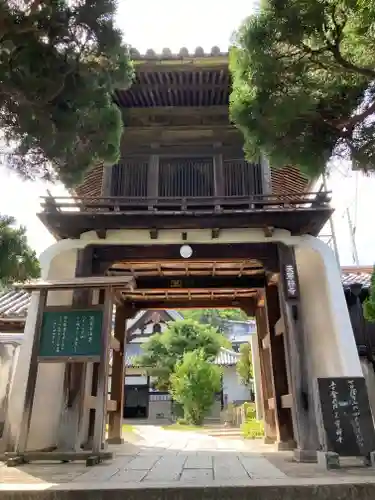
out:
M225 51L233 31L251 13L253 6L251 0L189 0L187 3L119 0L117 25L124 32L125 41L141 53L149 48L156 52L163 48L178 52L181 47L187 47L193 51L197 46L207 52L213 46ZM375 261L375 231L371 224L367 233L371 217L368 208L373 207L375 198L375 178L357 176L341 169L333 173L328 184L333 189L334 224L341 264L353 264L347 218L343 217L345 208L350 207L353 223L357 222L360 264L372 265ZM59 196L67 194L62 186L25 182L0 165L0 213L13 215L18 223L26 226L29 243L38 254L54 241L36 216L39 198L46 194L46 189Z

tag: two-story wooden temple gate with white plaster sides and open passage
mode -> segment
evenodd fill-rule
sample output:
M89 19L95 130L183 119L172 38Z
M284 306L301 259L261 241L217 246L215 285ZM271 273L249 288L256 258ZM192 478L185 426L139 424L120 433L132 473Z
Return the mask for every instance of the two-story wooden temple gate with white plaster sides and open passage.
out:
M108 442L121 442L126 320L144 309L242 308L255 316L266 441L314 459L321 378L363 378L340 270L316 238L332 209L296 168L245 160L228 118L226 54L136 56L137 78L114 99L124 111L122 156L92 170L72 200L39 214L59 240L41 256L44 279L118 276ZM73 205L74 206L74 205ZM88 306L102 294L54 291L47 305ZM9 404L8 445L19 432L20 387L35 334L34 293ZM110 335L110 332L108 332ZM89 446L100 364L41 365L28 449ZM104 434L103 434L104 439Z

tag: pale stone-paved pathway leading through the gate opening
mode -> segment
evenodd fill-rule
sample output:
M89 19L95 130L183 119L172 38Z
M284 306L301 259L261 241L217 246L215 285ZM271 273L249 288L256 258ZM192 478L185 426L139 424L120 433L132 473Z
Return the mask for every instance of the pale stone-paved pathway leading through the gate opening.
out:
M139 426L128 443L113 447L116 458L87 468L77 463L31 463L18 468L0 465L0 490L69 484L82 487L148 487L189 485L251 485L259 481L286 483L298 478L366 479L373 469L355 473L323 472L315 464L296 464L288 453L275 453L260 441L221 439L190 431ZM366 477L363 477L366 476Z

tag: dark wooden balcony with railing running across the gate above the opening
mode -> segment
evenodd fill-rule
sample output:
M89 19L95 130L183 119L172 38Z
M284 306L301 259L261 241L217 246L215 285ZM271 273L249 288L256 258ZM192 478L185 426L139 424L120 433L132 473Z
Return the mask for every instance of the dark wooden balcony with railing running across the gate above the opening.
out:
M329 193L205 197L52 198L42 202L40 219L58 238L78 238L87 231L148 229L273 228L294 235L317 235L332 213Z

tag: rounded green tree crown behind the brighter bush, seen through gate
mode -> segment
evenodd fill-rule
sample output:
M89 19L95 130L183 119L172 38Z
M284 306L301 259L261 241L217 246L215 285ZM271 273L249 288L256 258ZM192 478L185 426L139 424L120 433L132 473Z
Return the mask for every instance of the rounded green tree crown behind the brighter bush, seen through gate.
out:
M157 377L159 389L168 390L170 376L185 353L201 349L205 359L213 361L222 345L226 345L226 339L215 328L193 320L174 321L143 344L137 365Z

